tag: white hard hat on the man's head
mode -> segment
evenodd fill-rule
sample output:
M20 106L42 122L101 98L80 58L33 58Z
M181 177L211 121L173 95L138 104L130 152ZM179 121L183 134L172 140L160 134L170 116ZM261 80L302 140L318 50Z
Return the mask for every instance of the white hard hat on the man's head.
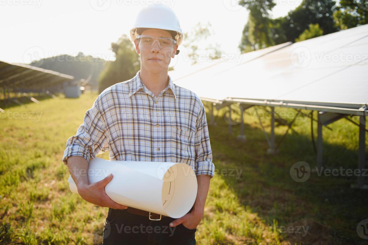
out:
M163 4L152 4L139 11L134 26L130 30L130 38L133 42L138 36L137 28L171 30L177 33L175 40L178 45L183 41L178 17L171 8Z

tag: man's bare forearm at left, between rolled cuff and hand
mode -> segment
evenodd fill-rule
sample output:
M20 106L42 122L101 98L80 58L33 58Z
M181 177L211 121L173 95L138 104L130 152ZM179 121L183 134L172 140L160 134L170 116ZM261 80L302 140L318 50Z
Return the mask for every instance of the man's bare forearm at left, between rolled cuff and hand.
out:
M67 166L77 188L89 184L87 176L88 162L84 157L68 157Z

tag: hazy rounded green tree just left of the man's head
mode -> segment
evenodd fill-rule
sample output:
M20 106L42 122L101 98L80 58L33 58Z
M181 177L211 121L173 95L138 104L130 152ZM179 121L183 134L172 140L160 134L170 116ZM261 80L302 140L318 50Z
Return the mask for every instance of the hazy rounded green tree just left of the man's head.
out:
M140 57L130 38L123 34L116 43L111 44L116 60L107 63L100 75L99 92L122 81L134 77L140 69Z

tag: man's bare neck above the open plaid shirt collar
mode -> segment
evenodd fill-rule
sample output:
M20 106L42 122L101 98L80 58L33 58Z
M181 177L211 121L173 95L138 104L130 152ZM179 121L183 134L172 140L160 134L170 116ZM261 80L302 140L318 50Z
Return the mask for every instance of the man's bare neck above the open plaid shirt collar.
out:
M167 76L167 70L163 70L160 73L149 73L144 67L141 66L139 77L142 83L149 89L156 97L160 92L169 84L169 77Z

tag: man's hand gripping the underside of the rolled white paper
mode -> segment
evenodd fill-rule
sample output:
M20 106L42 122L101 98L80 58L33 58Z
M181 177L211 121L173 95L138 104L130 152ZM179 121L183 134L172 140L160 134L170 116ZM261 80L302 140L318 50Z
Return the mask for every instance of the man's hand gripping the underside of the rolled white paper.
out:
M106 176L104 179L89 185L78 186L79 195L86 200L100 207L107 207L113 209L126 209L127 206L120 205L106 194L105 186L113 178L112 173Z

